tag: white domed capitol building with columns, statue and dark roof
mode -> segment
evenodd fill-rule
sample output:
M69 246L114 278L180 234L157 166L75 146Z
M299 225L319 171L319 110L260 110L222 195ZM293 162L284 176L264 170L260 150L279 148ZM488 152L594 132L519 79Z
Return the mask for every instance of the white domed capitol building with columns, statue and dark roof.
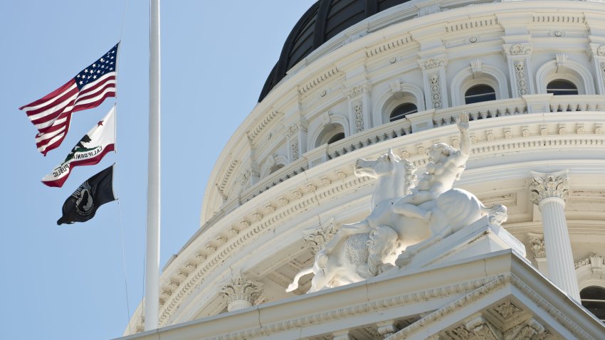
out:
M124 339L605 339L604 111L601 1L317 1Z

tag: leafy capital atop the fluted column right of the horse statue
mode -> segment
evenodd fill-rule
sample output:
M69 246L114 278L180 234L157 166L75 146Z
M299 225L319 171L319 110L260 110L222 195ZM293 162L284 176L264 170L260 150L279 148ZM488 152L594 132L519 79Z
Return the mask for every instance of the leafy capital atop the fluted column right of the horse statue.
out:
M530 201L537 206L545 198L560 198L563 201L569 196L569 170L551 173L532 171Z

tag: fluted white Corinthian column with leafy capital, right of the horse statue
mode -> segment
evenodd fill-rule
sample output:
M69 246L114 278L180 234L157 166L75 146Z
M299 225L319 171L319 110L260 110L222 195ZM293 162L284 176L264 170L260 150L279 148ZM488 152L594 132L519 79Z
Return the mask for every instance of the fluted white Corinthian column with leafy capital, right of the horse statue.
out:
M580 301L578 280L567 232L565 200L569 194L568 171L542 174L532 171L530 199L542 212L544 245L550 279L569 296Z

